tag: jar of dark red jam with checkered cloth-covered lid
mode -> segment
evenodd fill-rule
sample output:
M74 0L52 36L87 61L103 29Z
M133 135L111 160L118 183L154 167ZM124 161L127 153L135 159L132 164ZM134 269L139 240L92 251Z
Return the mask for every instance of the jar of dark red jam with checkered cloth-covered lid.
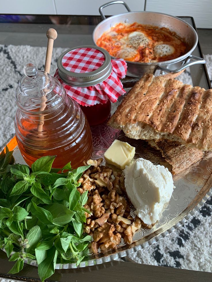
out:
M120 71L113 61L106 50L96 46L71 48L58 57L54 76L80 104L91 126L105 122L111 102L125 93L118 77ZM122 78L126 74L126 62L123 59L117 62L123 69Z

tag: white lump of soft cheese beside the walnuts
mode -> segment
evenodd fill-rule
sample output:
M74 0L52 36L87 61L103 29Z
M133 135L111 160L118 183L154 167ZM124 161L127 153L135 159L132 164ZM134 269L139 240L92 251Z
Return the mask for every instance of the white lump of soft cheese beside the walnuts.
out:
M124 174L126 193L136 209L135 214L145 224L154 224L175 188L171 172L164 166L139 158L126 166Z

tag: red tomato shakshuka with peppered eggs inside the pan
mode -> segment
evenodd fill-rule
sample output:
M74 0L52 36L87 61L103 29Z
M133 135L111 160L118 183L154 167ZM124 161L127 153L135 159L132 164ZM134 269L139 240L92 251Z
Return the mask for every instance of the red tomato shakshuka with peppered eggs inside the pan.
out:
M183 39L168 28L119 23L104 32L96 45L112 57L140 63L163 62L187 52Z

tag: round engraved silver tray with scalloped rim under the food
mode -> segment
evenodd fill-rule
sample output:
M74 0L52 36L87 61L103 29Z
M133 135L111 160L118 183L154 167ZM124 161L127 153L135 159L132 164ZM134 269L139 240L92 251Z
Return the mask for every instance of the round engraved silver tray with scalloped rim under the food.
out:
M120 104L120 99L112 105L111 114L115 112ZM128 142L136 149L135 159L145 158L154 164L161 164L168 168L169 164L164 160L159 151L150 147L145 141L134 140L126 137L120 130L107 126L106 123L91 128L93 136L92 158L104 157L104 152L111 145L113 140L119 139ZM15 137L10 139L9 148L14 149L16 162L24 163L24 160L17 147ZM162 213L159 222L152 229L141 228L134 236L131 245L120 244L116 250L100 254L90 254L84 258L78 267L101 264L117 258L127 256L137 250L156 243L166 235L169 235L177 227L182 225L205 203L212 192L212 152L204 154L203 158L196 164L184 170L181 174L173 177L175 189L169 205ZM37 266L36 261L26 260L26 263ZM76 268L75 263L56 264L56 269Z

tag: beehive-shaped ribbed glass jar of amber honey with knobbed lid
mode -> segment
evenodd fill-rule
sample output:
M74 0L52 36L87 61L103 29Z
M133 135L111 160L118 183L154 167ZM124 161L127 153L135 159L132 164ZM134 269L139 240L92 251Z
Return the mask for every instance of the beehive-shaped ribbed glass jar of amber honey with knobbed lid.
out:
M16 140L29 166L42 156L56 155L52 167L62 168L71 161L76 168L90 157L88 121L55 77L27 64L16 89L16 104Z

